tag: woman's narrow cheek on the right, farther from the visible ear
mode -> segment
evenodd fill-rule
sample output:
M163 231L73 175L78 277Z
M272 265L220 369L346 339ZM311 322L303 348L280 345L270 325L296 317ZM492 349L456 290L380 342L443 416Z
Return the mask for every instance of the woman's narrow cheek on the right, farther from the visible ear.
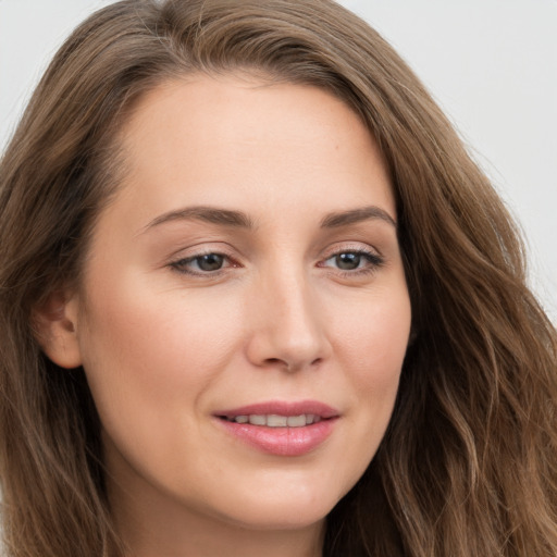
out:
M410 330L406 288L369 293L351 311L336 311L335 354L349 388L345 416L354 443L343 448L347 462L341 478L349 491L373 459L395 405ZM337 471L339 474L339 470Z

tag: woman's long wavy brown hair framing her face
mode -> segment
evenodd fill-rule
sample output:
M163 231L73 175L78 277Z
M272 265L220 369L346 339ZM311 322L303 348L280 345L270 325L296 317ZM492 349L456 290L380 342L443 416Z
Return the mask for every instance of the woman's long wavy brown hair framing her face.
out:
M34 309L79 282L134 101L191 72L324 88L376 138L397 200L413 338L370 467L324 555L557 555L557 338L517 230L420 82L330 0L124 0L83 23L0 163L0 478L10 557L121 555L83 370Z

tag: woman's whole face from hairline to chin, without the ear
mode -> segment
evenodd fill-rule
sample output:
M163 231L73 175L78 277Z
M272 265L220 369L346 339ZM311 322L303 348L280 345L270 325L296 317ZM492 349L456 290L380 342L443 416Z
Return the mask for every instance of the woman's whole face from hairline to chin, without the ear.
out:
M202 75L121 139L67 306L115 506L319 523L385 433L410 329L377 146L323 90Z

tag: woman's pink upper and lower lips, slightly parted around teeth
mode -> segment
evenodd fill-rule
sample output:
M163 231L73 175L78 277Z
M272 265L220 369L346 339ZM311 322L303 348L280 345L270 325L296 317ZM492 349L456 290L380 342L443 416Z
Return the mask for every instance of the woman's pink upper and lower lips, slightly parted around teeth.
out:
M322 421L301 428L269 428L223 419L248 414L300 416L302 413L319 416ZM314 400L260 403L214 412L214 416L219 418L219 424L234 437L263 453L287 457L306 455L317 448L331 435L339 418L334 408Z

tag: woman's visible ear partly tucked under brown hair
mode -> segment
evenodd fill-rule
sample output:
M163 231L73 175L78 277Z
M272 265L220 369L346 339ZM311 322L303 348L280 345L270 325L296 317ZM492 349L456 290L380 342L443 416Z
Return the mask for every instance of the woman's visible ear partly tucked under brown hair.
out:
M77 342L77 295L64 290L51 293L33 313L36 337L42 351L61 368L82 364Z

